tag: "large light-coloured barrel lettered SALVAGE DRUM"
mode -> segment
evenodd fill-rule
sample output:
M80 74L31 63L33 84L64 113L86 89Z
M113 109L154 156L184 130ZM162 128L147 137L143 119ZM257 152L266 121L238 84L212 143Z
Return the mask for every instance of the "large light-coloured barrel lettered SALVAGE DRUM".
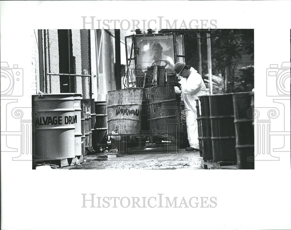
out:
M33 158L74 158L74 94L32 95L32 107Z

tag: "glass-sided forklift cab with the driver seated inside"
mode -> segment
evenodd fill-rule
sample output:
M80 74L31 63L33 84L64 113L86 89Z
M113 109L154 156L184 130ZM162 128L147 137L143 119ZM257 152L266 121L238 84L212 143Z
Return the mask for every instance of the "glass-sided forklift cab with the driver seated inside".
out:
M125 37L128 88L149 88L178 81L176 62L186 62L185 34L159 33Z

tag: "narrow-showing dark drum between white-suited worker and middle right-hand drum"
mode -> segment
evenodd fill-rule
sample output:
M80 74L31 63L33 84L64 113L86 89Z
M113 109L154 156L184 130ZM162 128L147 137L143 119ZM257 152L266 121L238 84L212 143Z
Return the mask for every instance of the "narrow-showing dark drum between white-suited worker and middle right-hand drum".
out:
M209 96L208 95L200 96L199 101L200 101L199 117L197 111L197 122L199 122L201 125L199 139L201 140L200 142L202 146L201 149L203 160L207 161L213 159Z

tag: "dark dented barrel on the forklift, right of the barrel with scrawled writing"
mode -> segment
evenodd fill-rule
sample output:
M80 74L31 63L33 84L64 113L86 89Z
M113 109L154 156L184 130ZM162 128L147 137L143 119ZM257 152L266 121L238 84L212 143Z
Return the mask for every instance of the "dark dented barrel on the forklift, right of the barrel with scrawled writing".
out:
M180 125L178 102L174 85L154 86L145 89L147 97L147 114L150 129L155 134L168 132L167 126L177 124L177 129L171 129L170 134L178 132ZM176 135L178 136L178 134Z

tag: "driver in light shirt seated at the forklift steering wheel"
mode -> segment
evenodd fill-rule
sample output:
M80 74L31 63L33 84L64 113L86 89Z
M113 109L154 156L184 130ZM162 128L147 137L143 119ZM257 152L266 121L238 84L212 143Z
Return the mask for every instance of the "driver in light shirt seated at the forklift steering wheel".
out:
M162 54L163 47L159 43L154 43L152 44L152 51L154 55L152 55L149 59L148 62L151 62L152 64L155 65L165 65L166 64L166 69L168 69L169 73L174 72L174 62L173 59L167 55Z

